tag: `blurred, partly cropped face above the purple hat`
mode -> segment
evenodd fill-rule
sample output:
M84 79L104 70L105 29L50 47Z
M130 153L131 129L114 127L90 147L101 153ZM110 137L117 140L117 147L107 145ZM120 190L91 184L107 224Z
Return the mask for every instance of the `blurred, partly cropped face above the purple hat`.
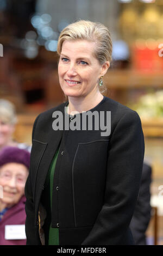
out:
M7 145L12 138L12 133L14 132L14 125L4 123L0 119L0 148Z

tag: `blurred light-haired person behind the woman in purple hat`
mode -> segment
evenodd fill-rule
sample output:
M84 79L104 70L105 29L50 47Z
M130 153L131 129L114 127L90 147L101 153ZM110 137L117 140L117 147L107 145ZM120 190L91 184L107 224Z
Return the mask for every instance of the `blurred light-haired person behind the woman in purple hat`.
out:
M15 106L8 100L0 99L0 150L5 146L18 147L30 152L31 146L18 143L12 138L17 123Z

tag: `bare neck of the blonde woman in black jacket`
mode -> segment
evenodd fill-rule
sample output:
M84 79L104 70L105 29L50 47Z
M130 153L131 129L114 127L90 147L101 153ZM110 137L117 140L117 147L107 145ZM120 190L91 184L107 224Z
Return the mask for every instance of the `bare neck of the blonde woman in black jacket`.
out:
M68 114L82 113L89 111L98 105L103 99L103 95L98 91L95 94L87 95L86 97L71 97L68 96Z

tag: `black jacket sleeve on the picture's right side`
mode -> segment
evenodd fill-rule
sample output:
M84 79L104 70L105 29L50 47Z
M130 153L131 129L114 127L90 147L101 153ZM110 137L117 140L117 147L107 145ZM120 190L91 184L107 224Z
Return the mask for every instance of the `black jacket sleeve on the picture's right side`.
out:
M140 117L129 111L112 132L104 204L82 245L123 244L139 192L143 157Z

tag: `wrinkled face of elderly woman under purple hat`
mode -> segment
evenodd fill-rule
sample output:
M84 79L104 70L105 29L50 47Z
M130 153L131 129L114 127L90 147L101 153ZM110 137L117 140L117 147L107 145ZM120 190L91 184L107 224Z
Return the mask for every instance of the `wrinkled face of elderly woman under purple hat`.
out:
M24 194L28 169L20 163L7 163L0 167L0 185L3 187L3 202L8 207L15 205Z

